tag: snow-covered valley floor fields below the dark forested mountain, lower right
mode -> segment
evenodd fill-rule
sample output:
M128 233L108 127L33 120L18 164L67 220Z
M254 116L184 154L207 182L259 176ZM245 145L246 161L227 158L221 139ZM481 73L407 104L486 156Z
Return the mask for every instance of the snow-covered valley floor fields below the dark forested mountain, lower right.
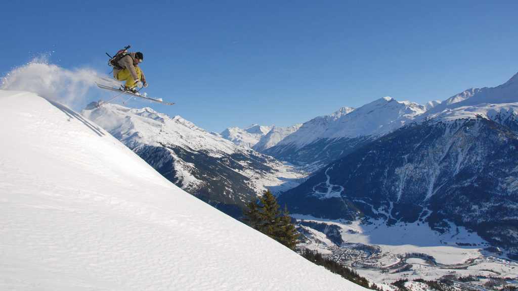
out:
M314 217L293 216L298 220L323 222ZM379 286L400 279L436 281L445 275L501 279L518 277L518 264L485 251L487 242L454 224L450 224L450 231L439 234L422 223L393 226L376 220L370 220L367 224L358 221L351 224L340 221L325 223L340 227L344 243L337 246L322 232L311 229L312 239L305 243L305 248L353 266L358 274ZM363 245L378 246L379 251L358 251ZM482 279L478 284L486 281Z

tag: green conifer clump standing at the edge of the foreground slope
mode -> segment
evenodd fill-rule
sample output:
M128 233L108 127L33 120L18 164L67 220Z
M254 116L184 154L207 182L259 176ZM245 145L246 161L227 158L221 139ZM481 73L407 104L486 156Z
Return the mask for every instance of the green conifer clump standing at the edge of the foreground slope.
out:
M288 248L295 249L299 234L291 222L287 207L284 207L284 211L279 210L277 198L270 190L246 205L248 209L243 211L245 222Z

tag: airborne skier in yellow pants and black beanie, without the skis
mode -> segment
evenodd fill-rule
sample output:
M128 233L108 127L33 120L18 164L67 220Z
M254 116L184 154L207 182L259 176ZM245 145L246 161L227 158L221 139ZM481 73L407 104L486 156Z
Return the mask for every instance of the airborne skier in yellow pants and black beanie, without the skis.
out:
M124 83L124 91L136 93L135 87L147 87L146 77L138 64L142 63L144 55L141 52L128 52L117 62L119 67L113 68L113 77Z

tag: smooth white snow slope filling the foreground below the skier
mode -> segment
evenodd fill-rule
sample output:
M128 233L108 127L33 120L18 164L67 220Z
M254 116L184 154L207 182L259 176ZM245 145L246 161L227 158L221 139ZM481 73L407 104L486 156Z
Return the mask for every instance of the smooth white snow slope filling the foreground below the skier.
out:
M0 132L0 289L363 289L180 190L66 107L0 91Z

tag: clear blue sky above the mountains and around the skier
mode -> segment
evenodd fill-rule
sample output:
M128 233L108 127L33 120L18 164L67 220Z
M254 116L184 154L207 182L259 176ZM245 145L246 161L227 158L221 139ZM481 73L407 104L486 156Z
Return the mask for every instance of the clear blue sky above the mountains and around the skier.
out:
M215 132L290 126L384 96L424 104L518 72L514 0L19 0L2 10L0 75L41 53L108 75L105 52L131 43L148 96L176 105L128 105Z

